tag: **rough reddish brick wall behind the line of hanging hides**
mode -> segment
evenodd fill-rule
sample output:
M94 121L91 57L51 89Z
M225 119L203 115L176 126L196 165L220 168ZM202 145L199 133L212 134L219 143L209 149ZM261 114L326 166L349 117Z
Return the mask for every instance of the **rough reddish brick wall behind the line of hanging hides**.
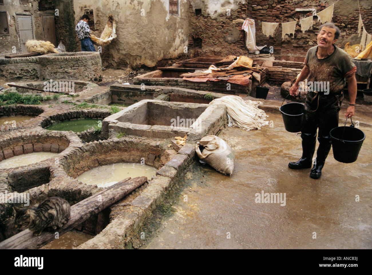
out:
M194 3L195 2L195 3ZM241 3L239 3L241 2ZM313 29L301 32L301 27L296 26L294 38L285 36L282 41L282 27L279 24L274 37L267 38L262 33L264 22L289 22L299 20L300 12L296 8L314 8L317 12L334 4L333 22L340 30L340 38L337 46L344 48L346 42L351 45L359 43L360 37L356 35L359 10L357 1L336 0L252 0L225 1L225 5L215 9L211 15L206 7L213 6L214 1L190 1L190 32L189 49L191 55L241 55L248 54L244 47L245 33L241 30L243 20L248 17L256 23L256 44L274 47L274 54L304 56L309 48L316 45L317 32L320 23L314 17ZM368 33L372 33L372 3L368 0L360 0L360 13ZM196 16L195 9L202 9L202 14ZM227 16L230 9L231 16ZM311 12L305 16L310 16ZM194 45L194 42L202 39L202 46Z

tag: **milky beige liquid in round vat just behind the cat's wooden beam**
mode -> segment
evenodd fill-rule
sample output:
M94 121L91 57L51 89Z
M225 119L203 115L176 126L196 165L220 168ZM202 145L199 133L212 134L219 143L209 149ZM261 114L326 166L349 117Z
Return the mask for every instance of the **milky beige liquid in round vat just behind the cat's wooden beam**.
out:
M109 187L125 178L155 176L157 169L150 165L139 163L116 163L98 166L81 174L77 179L86 184L96 184L98 187Z

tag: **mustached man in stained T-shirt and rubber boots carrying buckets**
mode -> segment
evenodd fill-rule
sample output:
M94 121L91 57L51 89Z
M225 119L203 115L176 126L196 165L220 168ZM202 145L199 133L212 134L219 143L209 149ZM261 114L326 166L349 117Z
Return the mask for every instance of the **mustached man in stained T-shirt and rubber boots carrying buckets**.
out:
M312 156L318 130L319 147L317 158L311 169L310 177L318 179L325 159L331 149L330 130L339 124L339 111L343 100L344 78L347 78L350 106L345 117L354 115L356 98L356 66L350 55L334 45L340 30L333 23L320 26L317 46L308 50L305 66L289 93L297 95L299 83L307 78L308 89L305 101L305 124L301 131L302 157L297 162L289 162L291 169L311 168ZM307 87L305 87L307 88Z

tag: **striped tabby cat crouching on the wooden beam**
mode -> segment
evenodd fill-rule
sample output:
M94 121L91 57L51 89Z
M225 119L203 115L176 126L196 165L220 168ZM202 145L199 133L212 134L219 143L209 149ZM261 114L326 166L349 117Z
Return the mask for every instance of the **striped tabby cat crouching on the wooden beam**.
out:
M57 229L70 219L70 204L60 197L50 197L31 209L14 206L15 227L28 227L34 236L39 236L47 228Z

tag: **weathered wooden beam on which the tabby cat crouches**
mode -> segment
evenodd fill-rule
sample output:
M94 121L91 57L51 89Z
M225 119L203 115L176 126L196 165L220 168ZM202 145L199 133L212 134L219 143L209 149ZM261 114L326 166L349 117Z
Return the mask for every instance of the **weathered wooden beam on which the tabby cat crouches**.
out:
M147 177L126 178L74 204L71 206L70 220L61 228L56 229L55 232L58 232L59 236L63 235L89 219L89 217L121 200L125 195L140 187L146 181ZM39 249L55 239L55 232L42 232L40 236L33 236L32 232L26 229L1 242L0 249Z

